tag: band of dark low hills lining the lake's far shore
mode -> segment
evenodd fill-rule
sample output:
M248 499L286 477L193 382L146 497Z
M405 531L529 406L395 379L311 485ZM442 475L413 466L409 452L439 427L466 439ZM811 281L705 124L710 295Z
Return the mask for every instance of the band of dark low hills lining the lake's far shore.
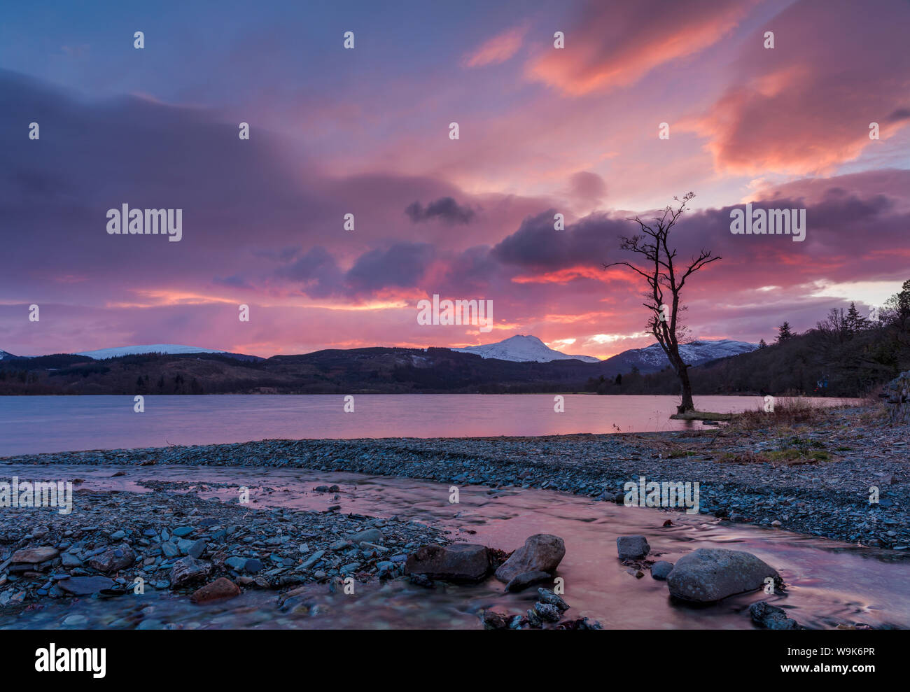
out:
M910 369L910 335L890 329L869 328L855 335L812 330L734 356L722 356L727 352L727 346L717 347L722 342L689 345L700 349L693 351L694 358L722 356L693 365L693 392L862 396ZM729 348L735 350L737 343L743 342L728 342L733 345ZM651 354L653 346L596 363L566 358L511 361L449 348L379 347L266 359L205 352L105 360L72 354L5 357L0 360L0 395L677 394L672 370L658 370ZM632 366L639 371L632 372Z

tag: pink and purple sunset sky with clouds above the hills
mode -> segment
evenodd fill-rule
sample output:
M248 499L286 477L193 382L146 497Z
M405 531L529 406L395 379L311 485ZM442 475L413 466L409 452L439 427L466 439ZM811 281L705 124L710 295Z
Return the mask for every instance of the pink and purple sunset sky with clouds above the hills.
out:
M609 357L653 339L604 265L689 191L679 256L723 257L691 336L867 311L910 278L908 25L903 0L5 7L0 349ZM747 202L805 209L804 241L731 233ZM108 233L124 204L181 209L180 241ZM492 328L419 324L433 295Z

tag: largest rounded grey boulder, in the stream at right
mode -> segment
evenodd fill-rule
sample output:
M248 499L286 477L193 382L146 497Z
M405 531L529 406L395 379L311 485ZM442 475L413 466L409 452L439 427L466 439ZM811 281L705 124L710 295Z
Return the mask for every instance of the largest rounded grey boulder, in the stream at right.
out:
M673 597L707 603L761 588L767 577L780 578L751 553L701 547L676 562L667 587Z

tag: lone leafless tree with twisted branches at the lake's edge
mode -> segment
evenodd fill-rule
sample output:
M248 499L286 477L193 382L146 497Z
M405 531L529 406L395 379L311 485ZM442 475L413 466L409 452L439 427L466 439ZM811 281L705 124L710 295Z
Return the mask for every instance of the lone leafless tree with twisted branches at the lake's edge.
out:
M642 305L651 311L648 328L661 345L663 353L673 368L673 372L680 380L680 394L682 401L676 407L676 412L683 414L695 410L692 400L692 385L689 382L689 366L680 356L680 342L685 334L680 313L684 309L680 300L682 287L686 279L692 276L703 266L721 259L713 255L711 250L702 250L697 257L693 257L688 265L679 265L676 260L676 248L670 247L670 231L677 219L687 210L686 204L695 196L689 192L679 197L673 197L678 206L666 206L661 216L652 219L646 224L641 218L635 216L628 219L634 221L641 228L642 234L638 236L620 236L621 250L629 250L642 256L642 267L631 262L612 262L603 268L611 266L627 266L644 277L648 282L648 290L642 295L647 302Z

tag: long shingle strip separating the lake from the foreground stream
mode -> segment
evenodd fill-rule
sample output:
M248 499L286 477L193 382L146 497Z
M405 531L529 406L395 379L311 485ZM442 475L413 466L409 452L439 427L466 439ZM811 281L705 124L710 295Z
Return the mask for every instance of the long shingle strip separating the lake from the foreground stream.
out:
M0 469L5 463L305 467L553 489L605 501L622 500L624 484L645 476L698 482L703 514L903 551L910 547L908 433L910 426L853 407L784 430L265 440L10 456L0 459Z

